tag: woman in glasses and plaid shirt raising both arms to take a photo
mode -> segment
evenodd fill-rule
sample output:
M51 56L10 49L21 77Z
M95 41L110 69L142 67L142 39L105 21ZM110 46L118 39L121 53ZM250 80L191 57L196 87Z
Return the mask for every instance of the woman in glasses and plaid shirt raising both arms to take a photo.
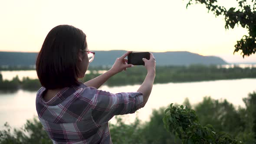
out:
M69 25L54 27L46 36L36 60L42 88L36 95L36 111L54 144L111 144L108 121L114 115L134 113L148 101L155 78L155 60L143 59L148 74L137 92L112 94L98 90L111 76L132 67L125 57L110 70L88 82L85 76L94 52L82 30Z

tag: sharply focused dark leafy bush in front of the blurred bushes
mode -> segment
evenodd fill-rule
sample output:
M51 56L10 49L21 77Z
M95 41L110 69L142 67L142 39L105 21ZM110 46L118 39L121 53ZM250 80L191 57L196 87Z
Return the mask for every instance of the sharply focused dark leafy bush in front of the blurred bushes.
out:
M183 105L175 107L173 104L165 110L163 118L164 128L180 138L184 144L240 144L225 132L216 133L212 125L202 126L196 112Z

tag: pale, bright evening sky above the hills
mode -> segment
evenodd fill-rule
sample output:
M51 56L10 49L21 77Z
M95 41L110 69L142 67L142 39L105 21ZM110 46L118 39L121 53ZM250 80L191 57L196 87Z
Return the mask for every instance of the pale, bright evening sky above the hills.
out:
M0 51L39 52L49 31L69 24L82 29L89 49L189 51L227 62L256 62L234 45L245 28L225 29L204 5L188 0L0 0ZM236 0L221 0L237 7Z

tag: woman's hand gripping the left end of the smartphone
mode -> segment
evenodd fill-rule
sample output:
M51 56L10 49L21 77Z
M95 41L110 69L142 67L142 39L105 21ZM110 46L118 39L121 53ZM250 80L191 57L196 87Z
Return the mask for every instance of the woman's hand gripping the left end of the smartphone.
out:
M117 58L115 60L114 65L109 71L112 71L114 74L117 74L118 72L121 72L123 70L126 70L127 68L133 67L132 64L127 64L128 60L125 59L126 56L128 56L129 53L132 51L126 52L123 56Z

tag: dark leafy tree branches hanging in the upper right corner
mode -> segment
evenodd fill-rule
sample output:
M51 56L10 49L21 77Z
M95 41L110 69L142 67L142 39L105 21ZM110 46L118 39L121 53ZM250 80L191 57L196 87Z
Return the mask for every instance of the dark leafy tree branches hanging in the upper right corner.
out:
M231 7L228 10L218 5L217 0L189 0L187 7L193 3L205 4L209 11L215 16L225 16L225 28L234 28L241 25L248 30L249 36L242 36L235 45L235 52L242 50L241 55L250 56L256 52L256 0L236 0L238 7Z

